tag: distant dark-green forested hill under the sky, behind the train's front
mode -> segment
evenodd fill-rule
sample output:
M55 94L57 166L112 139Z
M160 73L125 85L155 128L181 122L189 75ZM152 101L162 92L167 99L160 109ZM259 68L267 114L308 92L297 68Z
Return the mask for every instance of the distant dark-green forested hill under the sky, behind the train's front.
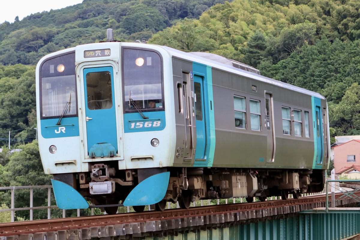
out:
M198 18L225 0L83 0L59 10L31 14L0 25L0 64L36 64L63 48L106 39L107 28L122 41L149 39L184 18Z

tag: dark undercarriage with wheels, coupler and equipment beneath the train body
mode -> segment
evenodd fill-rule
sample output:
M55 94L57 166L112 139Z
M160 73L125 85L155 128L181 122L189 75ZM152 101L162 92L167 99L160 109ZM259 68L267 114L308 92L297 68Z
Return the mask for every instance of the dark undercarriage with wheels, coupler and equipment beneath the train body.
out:
M324 187L324 171L309 169L173 167L116 170L110 164L97 163L91 166L90 172L57 174L54 179L72 186L94 205L107 206L104 210L113 214L119 203L124 203L141 182L160 173L170 173L167 187L165 182L162 183L163 199L151 203L160 211L166 208L167 202L178 201L181 208L187 209L195 200L246 198L252 201L253 197L258 197L265 201L271 196L287 199L288 194L298 198L303 193L320 192ZM137 204L133 208L141 212L144 205Z

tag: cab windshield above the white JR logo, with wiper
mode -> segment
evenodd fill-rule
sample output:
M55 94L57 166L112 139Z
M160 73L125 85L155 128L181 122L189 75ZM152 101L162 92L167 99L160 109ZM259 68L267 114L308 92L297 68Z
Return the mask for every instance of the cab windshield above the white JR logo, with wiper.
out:
M56 56L41 65L41 119L77 116L75 53Z

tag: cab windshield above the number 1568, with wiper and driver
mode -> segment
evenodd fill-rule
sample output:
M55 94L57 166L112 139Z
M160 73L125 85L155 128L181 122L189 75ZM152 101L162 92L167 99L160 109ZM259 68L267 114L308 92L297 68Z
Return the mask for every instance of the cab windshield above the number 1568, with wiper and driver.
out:
M122 49L125 112L164 109L162 58L156 51Z

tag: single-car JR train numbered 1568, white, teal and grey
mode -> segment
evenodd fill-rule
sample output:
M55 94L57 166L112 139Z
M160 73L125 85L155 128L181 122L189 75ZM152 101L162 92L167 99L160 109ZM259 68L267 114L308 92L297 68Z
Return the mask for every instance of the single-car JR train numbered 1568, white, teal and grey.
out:
M323 190L326 99L219 55L107 40L36 67L39 151L60 209L162 211Z

